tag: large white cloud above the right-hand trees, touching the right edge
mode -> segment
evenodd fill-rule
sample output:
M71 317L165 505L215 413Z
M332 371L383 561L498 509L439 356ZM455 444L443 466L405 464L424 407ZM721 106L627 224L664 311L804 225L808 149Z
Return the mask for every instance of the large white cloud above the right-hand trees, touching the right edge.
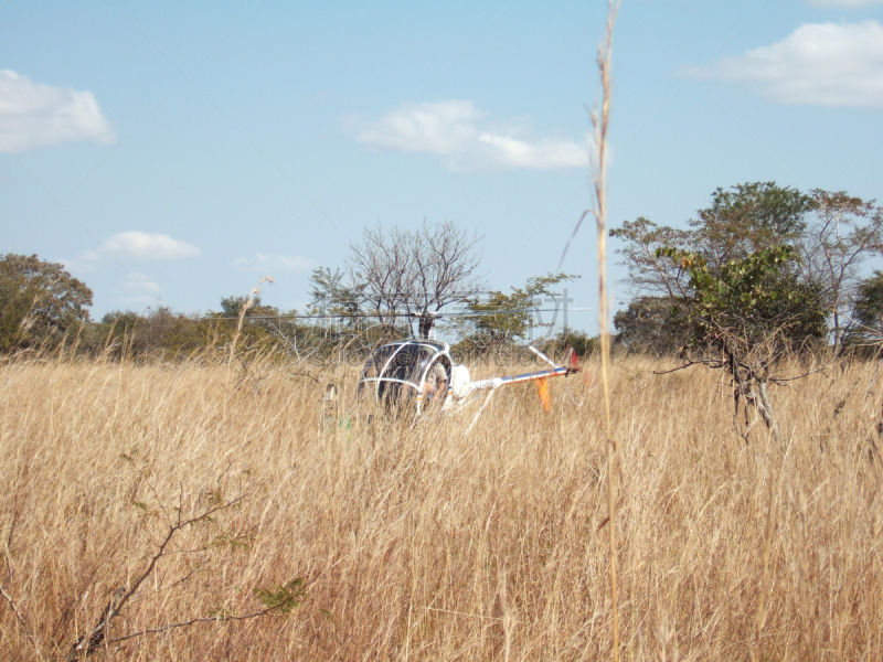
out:
M808 23L696 75L747 84L778 104L883 108L883 25Z

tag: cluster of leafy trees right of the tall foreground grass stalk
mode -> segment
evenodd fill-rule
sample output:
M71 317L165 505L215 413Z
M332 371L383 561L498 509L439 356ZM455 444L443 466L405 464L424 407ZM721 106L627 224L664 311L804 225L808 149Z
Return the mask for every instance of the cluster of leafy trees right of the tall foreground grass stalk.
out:
M629 351L683 354L716 333L777 352L875 345L883 333L883 209L842 191L749 182L712 193L687 228L646 217L621 241ZM713 343L711 343L713 344Z

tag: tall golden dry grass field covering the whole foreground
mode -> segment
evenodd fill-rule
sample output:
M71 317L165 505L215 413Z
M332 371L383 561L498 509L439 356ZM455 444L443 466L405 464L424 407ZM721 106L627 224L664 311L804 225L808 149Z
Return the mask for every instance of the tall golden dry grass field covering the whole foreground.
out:
M623 659L883 659L883 375L855 363L773 387L776 446L759 425L738 436L720 373L660 366L611 369ZM467 436L469 412L354 415L353 369L0 366L0 659L64 660L169 522L240 496L172 536L108 639L254 613L256 588L298 577L300 607L91 659L609 659L586 370L551 384L550 414L531 384L499 392ZM321 403L331 381L339 413Z

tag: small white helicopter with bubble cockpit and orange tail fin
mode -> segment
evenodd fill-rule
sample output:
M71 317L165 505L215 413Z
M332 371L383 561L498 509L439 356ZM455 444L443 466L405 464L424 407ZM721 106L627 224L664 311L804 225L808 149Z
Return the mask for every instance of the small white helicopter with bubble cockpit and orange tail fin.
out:
M493 392L501 386L534 382L543 408L549 412L551 401L547 380L566 377L579 372L577 356L573 348L568 348L566 351L567 365L557 365L533 345L528 345L528 349L547 363L551 369L472 381L469 369L451 359L450 346L447 342L428 339L390 342L374 350L365 361L357 385L357 393L373 395L379 403L387 406L413 404L419 416L425 412L426 405L434 401L442 402L442 412L462 409L466 405L475 402L471 396L478 392L490 392L489 399ZM426 383L430 372L437 370L436 365L442 366L447 378L445 380L445 391L434 396L427 393Z

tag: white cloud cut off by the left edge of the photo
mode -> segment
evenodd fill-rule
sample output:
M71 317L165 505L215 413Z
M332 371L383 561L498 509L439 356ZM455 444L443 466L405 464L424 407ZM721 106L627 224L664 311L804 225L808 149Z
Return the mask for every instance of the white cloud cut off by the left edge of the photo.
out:
M0 153L77 140L116 140L94 94L0 70Z

